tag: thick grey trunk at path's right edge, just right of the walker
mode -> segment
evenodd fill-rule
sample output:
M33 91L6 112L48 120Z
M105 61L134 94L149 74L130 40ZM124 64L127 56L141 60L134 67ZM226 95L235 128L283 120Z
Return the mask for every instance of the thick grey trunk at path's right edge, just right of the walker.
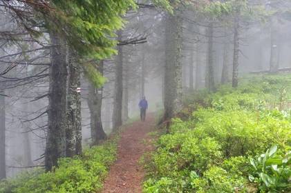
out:
M164 121L167 121L182 108L182 19L177 12L167 15L165 28Z

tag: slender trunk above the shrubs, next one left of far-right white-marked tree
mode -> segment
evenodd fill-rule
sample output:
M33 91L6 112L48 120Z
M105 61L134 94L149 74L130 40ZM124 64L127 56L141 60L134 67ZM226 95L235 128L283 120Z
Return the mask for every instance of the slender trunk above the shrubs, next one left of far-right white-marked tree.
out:
M239 57L239 12L234 19L234 61L232 69L232 87L238 86L238 57Z

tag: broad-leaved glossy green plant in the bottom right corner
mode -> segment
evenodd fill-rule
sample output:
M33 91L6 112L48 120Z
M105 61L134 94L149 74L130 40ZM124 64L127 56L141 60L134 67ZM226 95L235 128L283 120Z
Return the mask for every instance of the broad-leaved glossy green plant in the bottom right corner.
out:
M282 154L273 145L265 154L250 159L254 167L254 175L250 174L250 181L259 183L261 192L291 191L291 152Z

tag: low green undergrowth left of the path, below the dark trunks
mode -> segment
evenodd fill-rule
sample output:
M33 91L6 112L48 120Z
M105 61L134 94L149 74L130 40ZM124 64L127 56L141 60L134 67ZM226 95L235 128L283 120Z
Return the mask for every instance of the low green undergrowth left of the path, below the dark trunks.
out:
M89 148L81 157L60 159L54 172L24 172L0 183L1 193L65 193L101 190L109 165L115 161L118 137Z

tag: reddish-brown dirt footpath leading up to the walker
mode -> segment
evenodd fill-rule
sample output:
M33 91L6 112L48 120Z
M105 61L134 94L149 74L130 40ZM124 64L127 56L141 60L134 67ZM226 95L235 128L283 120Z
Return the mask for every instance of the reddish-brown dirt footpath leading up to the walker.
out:
M144 152L153 150L148 133L154 128L154 114L148 114L145 122L137 121L124 128L118 143L117 161L111 165L103 193L142 192L144 170L139 161Z

